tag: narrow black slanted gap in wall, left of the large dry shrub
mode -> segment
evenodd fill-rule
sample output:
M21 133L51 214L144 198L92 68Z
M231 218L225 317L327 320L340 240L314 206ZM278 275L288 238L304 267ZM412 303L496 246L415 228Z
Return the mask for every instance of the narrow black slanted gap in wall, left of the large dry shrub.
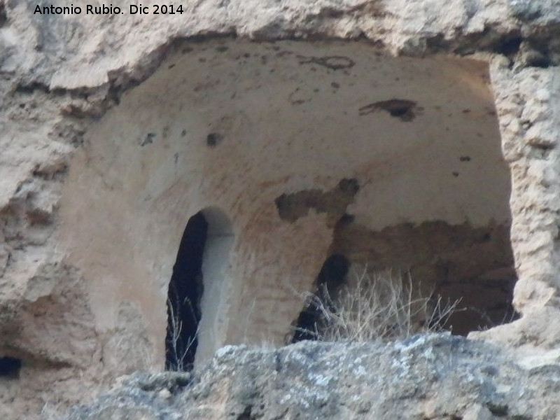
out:
M314 295L321 301L325 300L325 295L335 296L337 290L346 281L348 269L349 261L344 255L330 255L323 263L321 272L319 272L317 276ZM321 312L316 305L312 302L306 304L306 307L304 307L300 315L297 316L297 320L294 322L294 332L291 342L297 343L306 339L317 339L316 331L320 320Z

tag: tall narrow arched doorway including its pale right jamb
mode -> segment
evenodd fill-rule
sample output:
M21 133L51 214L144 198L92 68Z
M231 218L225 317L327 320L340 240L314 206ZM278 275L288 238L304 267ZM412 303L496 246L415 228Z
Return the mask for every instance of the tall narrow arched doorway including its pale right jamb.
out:
M204 209L189 219L169 281L166 370L190 370L222 344L221 303L233 239L230 220L220 209Z

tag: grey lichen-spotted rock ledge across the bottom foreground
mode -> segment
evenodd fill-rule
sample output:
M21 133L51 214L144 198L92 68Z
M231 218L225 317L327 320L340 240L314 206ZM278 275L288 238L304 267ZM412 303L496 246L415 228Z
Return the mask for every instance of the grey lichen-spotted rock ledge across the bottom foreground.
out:
M556 419L558 360L449 335L395 344L228 346L196 374L136 374L67 420Z

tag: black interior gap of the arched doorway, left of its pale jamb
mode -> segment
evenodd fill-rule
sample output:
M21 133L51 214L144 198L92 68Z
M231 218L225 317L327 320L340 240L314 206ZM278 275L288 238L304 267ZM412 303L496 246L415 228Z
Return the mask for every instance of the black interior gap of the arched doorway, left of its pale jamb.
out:
M190 218L181 238L167 294L166 370L190 370L195 363L207 234L207 220L199 212Z

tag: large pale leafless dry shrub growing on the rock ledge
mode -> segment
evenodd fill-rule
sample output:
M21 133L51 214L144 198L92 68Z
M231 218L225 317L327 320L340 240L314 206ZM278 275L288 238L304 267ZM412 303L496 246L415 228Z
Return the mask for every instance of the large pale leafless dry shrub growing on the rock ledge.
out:
M326 342L367 342L402 339L420 332L442 330L456 309L456 302L442 302L433 294L421 296L407 275L391 272L354 274L353 284L331 296L326 287L307 295L307 304L318 312L316 339Z

